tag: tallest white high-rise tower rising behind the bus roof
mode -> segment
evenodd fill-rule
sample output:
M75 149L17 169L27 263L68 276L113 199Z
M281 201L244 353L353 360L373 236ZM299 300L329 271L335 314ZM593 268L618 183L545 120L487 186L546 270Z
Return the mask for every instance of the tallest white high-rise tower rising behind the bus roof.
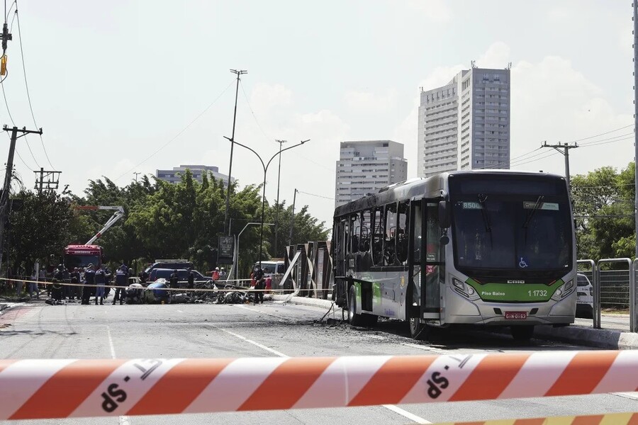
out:
M510 69L472 68L421 88L417 175L510 168Z

